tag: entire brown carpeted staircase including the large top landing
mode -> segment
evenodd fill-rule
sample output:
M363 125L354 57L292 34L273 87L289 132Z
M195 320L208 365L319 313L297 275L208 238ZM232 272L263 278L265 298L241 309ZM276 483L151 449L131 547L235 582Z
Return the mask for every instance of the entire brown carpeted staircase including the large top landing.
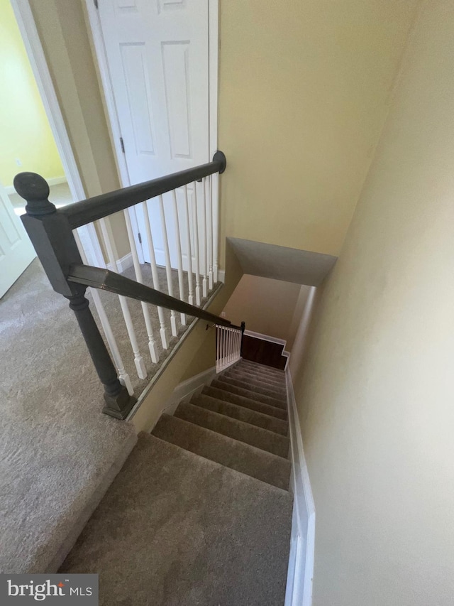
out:
M240 361L138 444L61 568L100 604L284 604L292 495L284 372Z

